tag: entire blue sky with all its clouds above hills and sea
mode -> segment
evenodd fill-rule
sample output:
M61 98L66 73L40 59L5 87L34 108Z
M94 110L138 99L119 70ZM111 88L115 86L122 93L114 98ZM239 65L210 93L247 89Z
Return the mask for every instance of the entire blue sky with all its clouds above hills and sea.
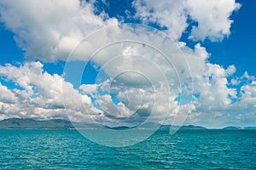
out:
M2 0L0 120L256 126L255 5Z

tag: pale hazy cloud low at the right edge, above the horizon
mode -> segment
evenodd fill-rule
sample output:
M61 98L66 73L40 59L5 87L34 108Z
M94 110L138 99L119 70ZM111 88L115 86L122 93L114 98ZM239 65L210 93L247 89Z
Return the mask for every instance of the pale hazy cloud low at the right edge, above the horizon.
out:
M255 80L255 77L248 75L247 72L241 77L232 79L230 82L232 82L232 86L235 87L235 89L218 88L220 91L221 89L225 89L226 91L231 91L231 94L234 94L234 96L229 94L230 98L225 99L230 103L229 105L223 105L224 107L219 105L218 109L211 109L209 111L207 109L201 110L200 107L196 106L195 112L189 115L187 122L196 122L206 127L225 127L234 125L241 127L255 126ZM224 96L228 94L224 91L221 91L221 93L223 94L219 94L219 97L216 97L216 99L212 101L212 105L216 104L219 100L224 99ZM235 99L232 100L232 98ZM211 104L208 104L208 106L209 105Z

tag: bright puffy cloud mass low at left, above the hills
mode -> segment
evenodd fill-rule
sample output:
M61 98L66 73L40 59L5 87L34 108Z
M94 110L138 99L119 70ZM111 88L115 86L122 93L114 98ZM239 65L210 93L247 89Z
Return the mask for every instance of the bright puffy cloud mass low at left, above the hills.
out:
M101 113L92 105L90 97L79 94L70 82L65 82L59 75L44 71L40 62L20 66L1 65L0 76L5 77L6 82L16 84L14 89L0 85L0 112L6 117L63 118L67 117L65 108L70 112L69 118L74 120L88 119L89 112L92 115ZM62 95L68 101L66 105Z

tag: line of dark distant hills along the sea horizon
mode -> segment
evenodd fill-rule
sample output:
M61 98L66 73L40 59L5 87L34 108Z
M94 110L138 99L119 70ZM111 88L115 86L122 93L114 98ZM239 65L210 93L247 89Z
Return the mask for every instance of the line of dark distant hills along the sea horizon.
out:
M0 128L49 128L49 129L72 129L72 128L84 128L84 129L101 129L106 128L100 124L94 124L89 122L70 122L64 119L51 119L46 121L38 121L34 119L20 119L20 118L9 118L0 121ZM157 122L146 122L141 124L139 127L107 127L114 130L125 130L130 128L137 129L162 129L168 130L170 127L179 128L180 130L201 130L207 129L207 127L201 126L172 126L172 125L160 125ZM223 130L236 130L236 129L256 129L256 127L224 127Z

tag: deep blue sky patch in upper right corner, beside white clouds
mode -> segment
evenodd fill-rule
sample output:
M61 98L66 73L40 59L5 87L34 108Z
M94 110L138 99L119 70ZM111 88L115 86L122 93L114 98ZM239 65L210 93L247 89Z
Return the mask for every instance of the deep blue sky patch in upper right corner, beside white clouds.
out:
M235 20L230 28L231 35L224 42L217 44L206 43L208 50L212 53L210 61L220 65L236 65L237 74L241 75L248 71L251 75L256 75L254 65L256 63L256 19L253 16L255 2L237 1L242 4L241 9L233 14L231 18Z

